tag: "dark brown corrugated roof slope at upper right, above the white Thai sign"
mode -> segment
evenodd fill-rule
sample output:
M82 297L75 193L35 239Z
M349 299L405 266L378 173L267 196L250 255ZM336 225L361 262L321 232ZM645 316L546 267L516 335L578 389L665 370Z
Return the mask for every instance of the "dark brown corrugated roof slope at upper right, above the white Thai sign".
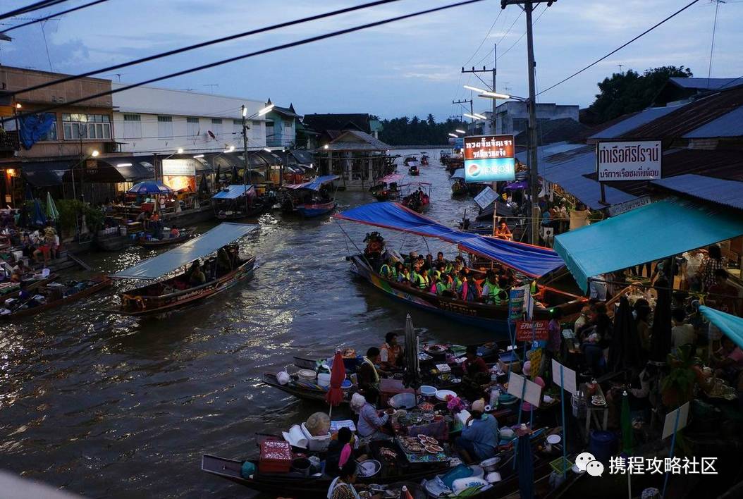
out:
M743 106L743 87L719 91L707 97L673 108L672 113L656 117L622 135L627 139L673 139L711 123Z

